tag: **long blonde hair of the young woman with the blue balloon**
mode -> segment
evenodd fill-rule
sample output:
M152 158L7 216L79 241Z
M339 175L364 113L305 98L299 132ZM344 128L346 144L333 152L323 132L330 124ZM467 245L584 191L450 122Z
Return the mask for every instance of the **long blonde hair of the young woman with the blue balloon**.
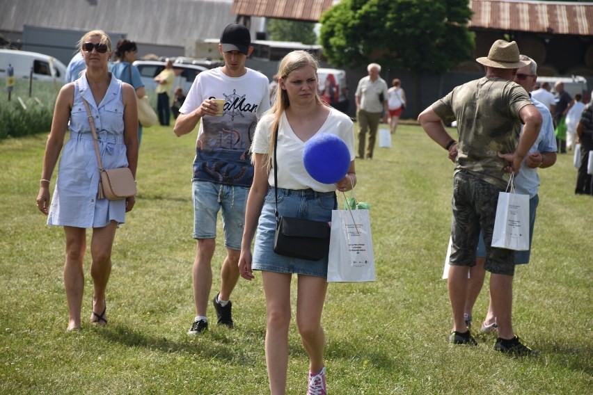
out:
M269 161L266 162L267 170L271 168L271 158L274 154L274 143L276 142L276 129L278 129L280 125L280 118L282 117L282 113L285 111L286 108L290 106L290 99L288 98L288 94L286 90L280 87L280 82L285 81L290 73L299 70L305 66L312 66L315 69L315 78L319 79L317 76L317 69L319 68L319 63L315 56L309 54L307 51L298 50L289 52L278 65L278 89L276 89L276 100L274 100L274 104L269 109L268 113L274 115L274 120L271 122L270 127L270 145L268 147L268 158ZM280 81L281 80L281 81ZM321 104L326 106L327 104L319 97L319 91L315 89L315 102L317 104Z

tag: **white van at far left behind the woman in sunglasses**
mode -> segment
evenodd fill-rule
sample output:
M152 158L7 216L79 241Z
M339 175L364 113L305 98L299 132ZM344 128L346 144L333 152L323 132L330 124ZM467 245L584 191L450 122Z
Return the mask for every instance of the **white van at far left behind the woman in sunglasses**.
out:
M58 59L37 52L0 49L0 77L6 78L8 65L14 68L15 81L29 79L33 70L33 80L56 81L64 83L66 66Z

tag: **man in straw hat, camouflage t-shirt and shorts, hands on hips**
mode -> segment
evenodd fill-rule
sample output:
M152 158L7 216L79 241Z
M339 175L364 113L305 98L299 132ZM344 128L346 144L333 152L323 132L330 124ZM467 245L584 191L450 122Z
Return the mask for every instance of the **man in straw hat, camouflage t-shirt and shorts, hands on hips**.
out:
M491 273L490 293L498 322L494 349L528 355L535 352L521 343L512 328L514 251L490 245L498 193L507 187L508 172L521 168L542 118L525 89L513 82L517 70L530 63L519 60L516 42L497 40L488 56L476 61L484 65L486 76L457 86L418 117L429 137L448 150L455 163L448 275L453 312L450 344L477 345L464 321L464 305L468 266L475 265L481 229L487 255L484 269ZM457 120L459 143L447 133L443 120ZM521 122L524 126L519 137Z

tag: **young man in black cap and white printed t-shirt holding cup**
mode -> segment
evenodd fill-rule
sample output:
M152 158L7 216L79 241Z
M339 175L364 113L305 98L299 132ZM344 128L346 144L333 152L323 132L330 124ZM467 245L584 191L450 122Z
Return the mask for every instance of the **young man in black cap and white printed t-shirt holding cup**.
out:
M193 238L198 240L192 273L196 318L188 334L208 328L206 309L221 209L227 255L221 268L221 290L213 303L219 325L232 328L230 293L239 279L245 205L253 181L249 147L255 124L269 108L267 77L245 67L253 51L248 29L237 23L226 26L219 51L224 66L196 76L174 128L177 136L183 136L200 123L192 177ZM224 104L216 104L215 99L223 99Z

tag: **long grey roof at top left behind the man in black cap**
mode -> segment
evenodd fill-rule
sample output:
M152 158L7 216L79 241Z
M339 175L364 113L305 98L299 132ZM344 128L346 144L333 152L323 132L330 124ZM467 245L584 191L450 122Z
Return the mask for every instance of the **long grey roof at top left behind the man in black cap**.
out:
M139 43L183 47L186 39L219 38L235 22L231 6L232 0L1 0L0 30L102 29Z

